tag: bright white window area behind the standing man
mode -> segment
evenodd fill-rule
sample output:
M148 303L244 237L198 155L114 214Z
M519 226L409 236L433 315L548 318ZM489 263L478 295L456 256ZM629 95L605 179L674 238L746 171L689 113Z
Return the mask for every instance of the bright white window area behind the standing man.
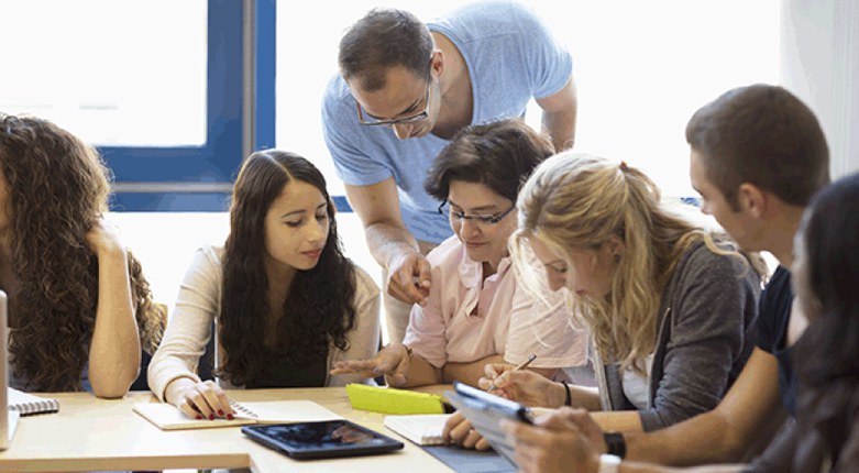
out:
M460 1L397 1L430 20ZM525 1L573 54L575 150L641 167L665 195L692 196L685 124L720 92L779 82L779 0ZM343 31L372 0L277 3L277 145L313 160L343 194L322 140L320 101ZM527 121L539 127L536 103Z

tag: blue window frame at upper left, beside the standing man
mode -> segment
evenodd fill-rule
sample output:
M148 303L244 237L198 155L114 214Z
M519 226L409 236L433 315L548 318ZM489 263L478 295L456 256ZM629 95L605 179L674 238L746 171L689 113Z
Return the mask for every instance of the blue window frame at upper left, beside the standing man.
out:
M242 158L274 144L275 0L208 0L208 10L205 144L100 147L113 211L223 211Z

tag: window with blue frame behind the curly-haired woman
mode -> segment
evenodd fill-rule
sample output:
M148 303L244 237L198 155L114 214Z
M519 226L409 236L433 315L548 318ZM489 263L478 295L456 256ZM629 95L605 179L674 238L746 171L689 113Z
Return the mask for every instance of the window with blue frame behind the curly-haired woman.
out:
M260 82L268 77L273 88L274 0L245 3L5 6L0 30L8 37L49 32L51 40L5 48L3 69L15 73L0 76L0 110L44 117L96 144L115 175L114 210L223 210L246 143L274 141L274 116L260 112L274 107ZM264 32L247 52L243 15ZM253 74L243 87L243 74L260 67L271 74ZM247 103L257 96L268 100ZM265 120L243 142L246 114Z

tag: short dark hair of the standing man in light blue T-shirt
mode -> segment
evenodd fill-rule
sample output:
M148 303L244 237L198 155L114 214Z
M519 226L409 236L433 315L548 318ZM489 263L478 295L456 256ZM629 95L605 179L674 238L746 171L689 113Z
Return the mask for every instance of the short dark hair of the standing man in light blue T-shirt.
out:
M346 30L340 40L338 65L345 80L357 78L362 89L385 87L385 72L404 66L429 77L433 42L429 29L414 14L375 8Z

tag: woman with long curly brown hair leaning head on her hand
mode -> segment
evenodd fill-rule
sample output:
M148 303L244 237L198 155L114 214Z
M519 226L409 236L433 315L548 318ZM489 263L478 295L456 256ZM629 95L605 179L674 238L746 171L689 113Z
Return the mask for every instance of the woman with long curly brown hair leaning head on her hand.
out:
M140 262L102 220L108 170L49 121L0 113L0 287L9 295L10 385L122 397L154 352L164 314Z

